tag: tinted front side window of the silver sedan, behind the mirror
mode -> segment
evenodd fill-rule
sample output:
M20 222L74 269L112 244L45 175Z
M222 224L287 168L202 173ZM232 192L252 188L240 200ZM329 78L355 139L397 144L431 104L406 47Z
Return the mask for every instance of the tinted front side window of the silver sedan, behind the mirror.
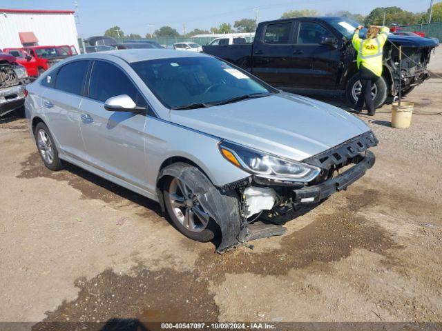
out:
M121 69L108 62L95 61L90 76L89 97L105 102L121 94L127 94L137 106L146 107L146 101Z

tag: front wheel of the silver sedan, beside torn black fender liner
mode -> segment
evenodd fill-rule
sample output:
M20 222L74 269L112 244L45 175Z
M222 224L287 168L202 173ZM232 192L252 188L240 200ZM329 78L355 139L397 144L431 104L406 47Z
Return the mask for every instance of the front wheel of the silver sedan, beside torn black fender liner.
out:
M187 163L175 163L169 166L178 166L180 172L181 170L185 171L186 168L200 172L198 168ZM204 176L204 174L200 174ZM172 176L166 177L163 186L164 205L171 221L182 234L196 241L211 241L218 234L218 225L202 208L198 196L193 194L195 185L206 184L193 183ZM205 192L209 191L209 188L203 189Z

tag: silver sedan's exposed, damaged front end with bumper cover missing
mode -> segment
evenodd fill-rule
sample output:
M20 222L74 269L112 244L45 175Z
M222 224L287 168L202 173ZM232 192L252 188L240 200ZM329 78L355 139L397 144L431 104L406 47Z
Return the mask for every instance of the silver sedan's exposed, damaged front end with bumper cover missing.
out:
M302 205L318 203L335 192L346 190L374 165L374 154L368 148L377 143L378 140L369 131L303 160L302 163L311 166L310 169L319 170L311 174L314 179L309 181L302 181L307 177L300 180L272 179L267 174L255 173L246 180L224 185L220 188L224 194L236 191L240 197L242 231L236 234L236 245L285 233L286 229L276 223L256 222L262 212L266 212L269 215L267 221L271 221L275 216L298 210Z

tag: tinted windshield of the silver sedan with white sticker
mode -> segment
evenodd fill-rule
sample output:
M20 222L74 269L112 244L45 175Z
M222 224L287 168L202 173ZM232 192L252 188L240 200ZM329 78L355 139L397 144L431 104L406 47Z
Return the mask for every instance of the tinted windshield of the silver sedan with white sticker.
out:
M167 108L222 103L249 94L267 95L273 88L247 72L212 57L182 57L131 63L146 86Z

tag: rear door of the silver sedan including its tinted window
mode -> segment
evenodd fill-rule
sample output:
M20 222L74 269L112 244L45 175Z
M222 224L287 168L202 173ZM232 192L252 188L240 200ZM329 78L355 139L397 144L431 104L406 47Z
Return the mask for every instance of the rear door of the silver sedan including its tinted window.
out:
M79 129L79 105L90 61L69 62L45 77L42 106L46 123L59 149L68 157L84 158Z

